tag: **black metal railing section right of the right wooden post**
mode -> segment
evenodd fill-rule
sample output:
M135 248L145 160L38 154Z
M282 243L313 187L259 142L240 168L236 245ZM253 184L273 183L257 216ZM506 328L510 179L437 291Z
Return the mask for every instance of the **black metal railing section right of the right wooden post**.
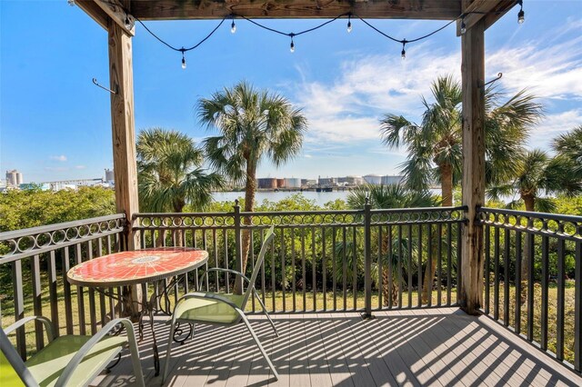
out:
M483 313L582 371L582 217L479 210Z

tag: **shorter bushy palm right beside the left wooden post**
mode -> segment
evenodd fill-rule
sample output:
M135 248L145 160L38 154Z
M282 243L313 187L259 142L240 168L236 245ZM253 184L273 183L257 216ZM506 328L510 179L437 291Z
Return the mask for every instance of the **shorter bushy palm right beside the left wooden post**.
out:
M141 211L181 213L186 203L200 211L211 203L211 191L222 187L219 174L201 168L203 152L186 134L146 129L137 136L135 148ZM177 233L177 245L181 236Z

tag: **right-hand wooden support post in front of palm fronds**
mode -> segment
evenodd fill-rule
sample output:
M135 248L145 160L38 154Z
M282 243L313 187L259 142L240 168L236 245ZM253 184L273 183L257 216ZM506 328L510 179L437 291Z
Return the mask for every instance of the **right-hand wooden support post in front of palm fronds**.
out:
M477 208L485 202L485 21L477 21L461 38L463 87L463 227L459 303L469 314L483 305L483 227Z

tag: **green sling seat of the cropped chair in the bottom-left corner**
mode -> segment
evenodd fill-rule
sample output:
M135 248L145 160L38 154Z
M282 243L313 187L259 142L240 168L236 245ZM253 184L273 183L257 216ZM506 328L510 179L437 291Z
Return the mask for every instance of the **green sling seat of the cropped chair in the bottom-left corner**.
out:
M75 353L90 339L91 336L57 337L31 356L25 362L26 367L40 386L53 386ZM127 338L123 336L107 336L95 344L73 372L69 385L82 386L91 382L111 362L115 354L121 351L126 342Z

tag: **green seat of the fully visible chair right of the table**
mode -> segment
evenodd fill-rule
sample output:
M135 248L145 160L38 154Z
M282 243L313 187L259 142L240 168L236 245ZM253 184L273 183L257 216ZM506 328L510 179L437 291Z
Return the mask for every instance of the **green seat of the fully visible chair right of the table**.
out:
M207 292L209 293L209 292ZM226 298L239 308L243 304L244 295L212 293ZM222 303L209 298L189 298L176 308L176 320L193 321L201 323L236 323L240 316L227 303Z

